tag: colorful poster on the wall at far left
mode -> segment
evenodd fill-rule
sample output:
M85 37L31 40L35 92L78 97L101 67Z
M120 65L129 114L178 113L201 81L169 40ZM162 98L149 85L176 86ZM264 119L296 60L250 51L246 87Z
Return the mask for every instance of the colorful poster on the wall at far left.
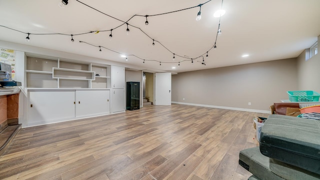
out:
M15 50L0 48L0 62L4 62L6 64L11 65L12 80L16 80L16 78L15 78Z

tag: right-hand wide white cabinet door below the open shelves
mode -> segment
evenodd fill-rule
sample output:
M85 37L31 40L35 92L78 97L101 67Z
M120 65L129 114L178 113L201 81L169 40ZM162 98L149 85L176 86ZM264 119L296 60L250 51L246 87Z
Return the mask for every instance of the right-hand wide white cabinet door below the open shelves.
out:
M76 90L76 116L110 113L110 90Z

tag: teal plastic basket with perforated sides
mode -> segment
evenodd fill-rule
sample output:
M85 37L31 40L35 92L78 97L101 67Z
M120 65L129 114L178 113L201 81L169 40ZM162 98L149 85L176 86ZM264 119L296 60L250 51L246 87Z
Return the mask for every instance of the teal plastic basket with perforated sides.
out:
M291 102L319 101L320 94L313 90L287 91Z

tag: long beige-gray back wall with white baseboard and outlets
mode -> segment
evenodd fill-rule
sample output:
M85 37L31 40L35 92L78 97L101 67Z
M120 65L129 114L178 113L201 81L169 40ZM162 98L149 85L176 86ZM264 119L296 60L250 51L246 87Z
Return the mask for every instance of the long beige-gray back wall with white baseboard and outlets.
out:
M270 110L273 102L288 99L286 91L297 87L297 60L289 58L172 75L171 98L181 103Z

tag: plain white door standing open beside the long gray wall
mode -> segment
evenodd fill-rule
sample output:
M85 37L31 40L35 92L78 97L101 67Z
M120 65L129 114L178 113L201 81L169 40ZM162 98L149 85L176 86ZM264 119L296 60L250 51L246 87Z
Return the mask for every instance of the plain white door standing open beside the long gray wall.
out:
M171 105L171 73L156 72L154 105Z

